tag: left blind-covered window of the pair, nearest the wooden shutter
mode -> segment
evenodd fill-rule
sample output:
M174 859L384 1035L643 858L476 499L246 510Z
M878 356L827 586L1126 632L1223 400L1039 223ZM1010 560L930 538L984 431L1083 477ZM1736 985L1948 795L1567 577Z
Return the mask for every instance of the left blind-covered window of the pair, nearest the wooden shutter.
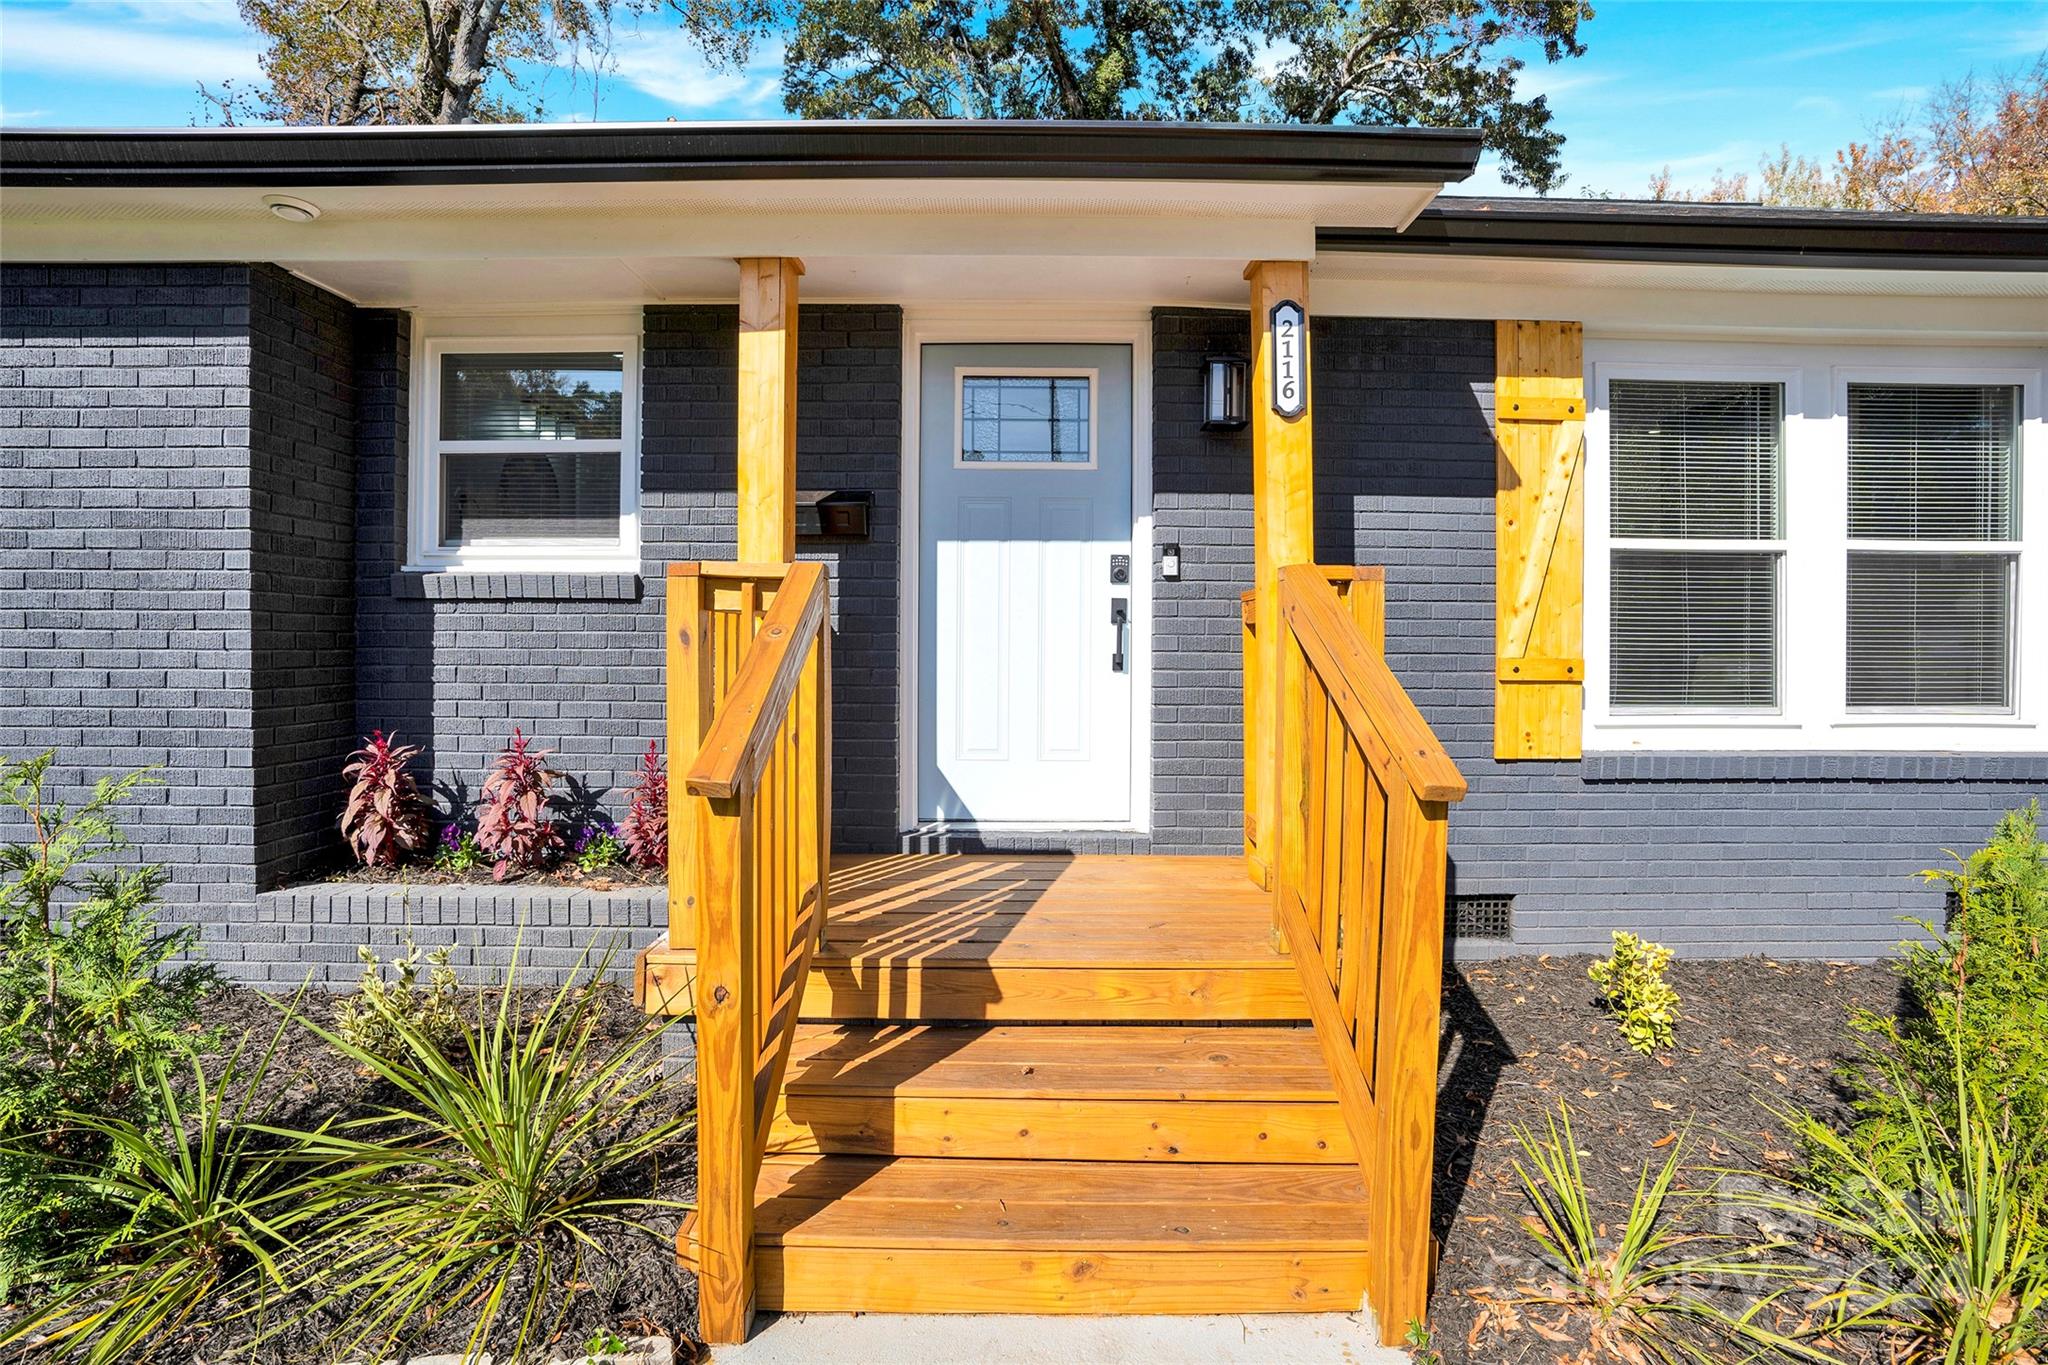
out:
M1618 379L1608 424L1610 704L1776 706L1784 387Z

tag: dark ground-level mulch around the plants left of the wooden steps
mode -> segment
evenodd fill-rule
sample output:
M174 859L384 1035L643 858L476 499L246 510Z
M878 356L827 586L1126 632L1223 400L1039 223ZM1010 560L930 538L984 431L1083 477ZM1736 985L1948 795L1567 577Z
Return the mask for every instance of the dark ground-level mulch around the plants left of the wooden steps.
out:
M647 1025L647 1017L633 1005L627 990L618 986L596 988L606 995L602 1013L604 1038L623 1040ZM547 999L547 993L541 990L522 990L522 995L530 997L530 1007L541 1007ZM307 993L301 997L299 1007L322 1025L332 1025L340 999L340 995ZM471 1001L487 1009L498 1007L496 993L473 993ZM207 1058L209 1072L219 1072L225 1052L244 1033L250 1036L252 1048L266 1046L283 1017L281 1003L281 997L244 986L229 986L215 993L205 1005L203 1023L205 1027L223 1031L223 1048L213 1058ZM395 1099L383 1091L381 1081L358 1072L354 1064L342 1062L328 1044L297 1023L289 1025L283 1033L264 1091L266 1097L276 1097L279 1101L274 1121L297 1128L317 1126L326 1117L342 1119L373 1113L379 1099ZM662 1115L649 1115L649 1119L684 1111L694 1103L694 1093L686 1076L668 1081L666 1091L659 1105ZM684 1140L678 1148L666 1152L659 1164L625 1171L616 1183L616 1191L633 1197L647 1195L680 1201L694 1195L694 1183L696 1152ZM625 1228L592 1228L598 1250L584 1257L575 1293L567 1297L565 1308L561 1304L561 1283L537 1287L547 1295L543 1320L553 1320L557 1308L563 1312L557 1332L551 1334L551 1342L559 1351L578 1355L578 1347L592 1332L614 1330L621 1334L666 1334L676 1342L678 1361L694 1359L696 1281L676 1265L674 1254L682 1212L645 1209L641 1218L657 1234L653 1240ZM563 1263L565 1259L557 1265ZM508 1304L522 1306L524 1297L524 1287L516 1287L508 1295ZM510 1338L516 1322L518 1312L504 1314L502 1336ZM408 1342L408 1351L412 1355L457 1351L473 1326L475 1314L457 1308L418 1340ZM238 1336L233 1328L199 1336L190 1342L193 1359L225 1359L238 1365L305 1365L309 1361L328 1361L332 1355L313 1326L272 1340L256 1353L238 1349ZM500 1351L498 1359L504 1361L506 1340L494 1345Z

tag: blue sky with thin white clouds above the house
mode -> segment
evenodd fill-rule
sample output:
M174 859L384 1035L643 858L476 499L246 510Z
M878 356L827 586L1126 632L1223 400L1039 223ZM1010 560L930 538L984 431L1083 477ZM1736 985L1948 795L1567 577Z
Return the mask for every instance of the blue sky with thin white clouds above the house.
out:
M1790 143L1827 158L1968 72L2048 49L2048 0L1595 0L1587 55L1524 74L1565 131L1565 194L1638 194L1755 170ZM623 31L616 70L537 72L559 119L772 119L776 70L711 72L674 23ZM233 0L0 0L0 123L188 125L195 82L252 80ZM1491 170L1462 186L1497 190Z

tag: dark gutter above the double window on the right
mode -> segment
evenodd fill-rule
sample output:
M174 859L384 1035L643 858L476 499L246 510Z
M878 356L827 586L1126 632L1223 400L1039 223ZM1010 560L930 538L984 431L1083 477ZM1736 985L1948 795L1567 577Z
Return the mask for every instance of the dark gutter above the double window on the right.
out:
M1405 231L1325 227L1319 252L1860 270L2048 270L2048 219L1759 205L1438 199Z

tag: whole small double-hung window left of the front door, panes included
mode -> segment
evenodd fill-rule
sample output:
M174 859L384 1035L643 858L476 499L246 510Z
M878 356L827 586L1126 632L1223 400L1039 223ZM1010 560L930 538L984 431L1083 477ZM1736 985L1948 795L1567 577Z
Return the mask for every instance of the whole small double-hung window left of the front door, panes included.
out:
M422 368L416 567L637 567L633 340L449 338Z

